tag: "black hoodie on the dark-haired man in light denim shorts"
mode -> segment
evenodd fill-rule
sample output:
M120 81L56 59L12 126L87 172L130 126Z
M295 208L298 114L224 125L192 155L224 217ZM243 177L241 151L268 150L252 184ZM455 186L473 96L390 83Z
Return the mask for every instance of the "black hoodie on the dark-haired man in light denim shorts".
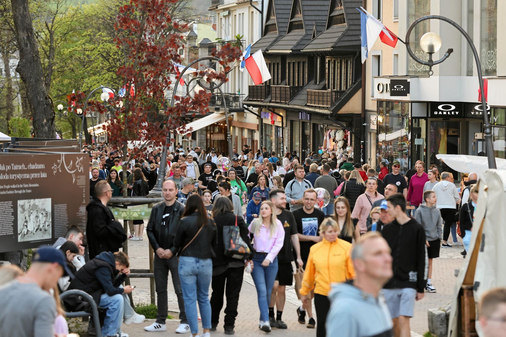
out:
M382 234L392 250L394 270L384 288L414 288L423 293L428 273L424 227L414 219L403 225L394 220L383 227Z

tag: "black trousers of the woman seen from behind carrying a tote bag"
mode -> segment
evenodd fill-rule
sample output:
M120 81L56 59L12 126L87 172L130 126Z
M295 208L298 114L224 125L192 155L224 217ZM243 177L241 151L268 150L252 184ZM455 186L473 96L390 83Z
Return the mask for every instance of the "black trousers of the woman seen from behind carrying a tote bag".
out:
M213 294L210 300L212 325L218 325L220 311L223 308L223 294L225 293L227 306L225 307L225 319L223 321L225 326L234 326L243 275L244 267L228 268L220 275L213 275L211 282Z

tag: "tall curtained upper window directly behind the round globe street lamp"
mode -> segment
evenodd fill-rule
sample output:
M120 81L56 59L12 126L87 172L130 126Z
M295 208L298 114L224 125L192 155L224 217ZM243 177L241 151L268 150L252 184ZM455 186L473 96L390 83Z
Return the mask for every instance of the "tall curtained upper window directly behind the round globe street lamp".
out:
M414 20L431 14L431 1L430 0L408 0L408 18L407 22L410 25ZM429 61L429 54L421 50L420 38L426 32L431 30L430 20L425 20L417 24L411 31L409 42L411 50L414 55L424 61ZM419 64L408 55L408 75L427 75L429 71L428 66Z

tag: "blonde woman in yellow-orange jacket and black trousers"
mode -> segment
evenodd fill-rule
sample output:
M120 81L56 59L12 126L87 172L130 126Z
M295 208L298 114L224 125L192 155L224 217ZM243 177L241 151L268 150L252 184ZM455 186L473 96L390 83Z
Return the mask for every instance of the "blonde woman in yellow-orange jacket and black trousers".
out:
M303 303L311 301L308 294L314 290L316 310L316 337L325 337L325 321L330 310L327 297L330 284L345 282L355 277L351 259L352 245L338 237L338 223L331 217L320 225L321 242L311 246L299 293Z

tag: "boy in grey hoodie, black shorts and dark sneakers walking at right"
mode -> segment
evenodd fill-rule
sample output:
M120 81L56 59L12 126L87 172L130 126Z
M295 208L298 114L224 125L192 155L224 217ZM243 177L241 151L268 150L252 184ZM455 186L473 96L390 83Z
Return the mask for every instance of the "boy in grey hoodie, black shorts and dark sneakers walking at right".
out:
M439 257L441 239L443 238L441 236L441 212L436 208L436 202L438 199L432 189L424 192L424 201L425 205L420 204L414 214L414 219L425 229L425 244L427 246L427 255L429 257L429 277L427 278L425 291L435 293L436 288L434 288L431 283L432 259Z

